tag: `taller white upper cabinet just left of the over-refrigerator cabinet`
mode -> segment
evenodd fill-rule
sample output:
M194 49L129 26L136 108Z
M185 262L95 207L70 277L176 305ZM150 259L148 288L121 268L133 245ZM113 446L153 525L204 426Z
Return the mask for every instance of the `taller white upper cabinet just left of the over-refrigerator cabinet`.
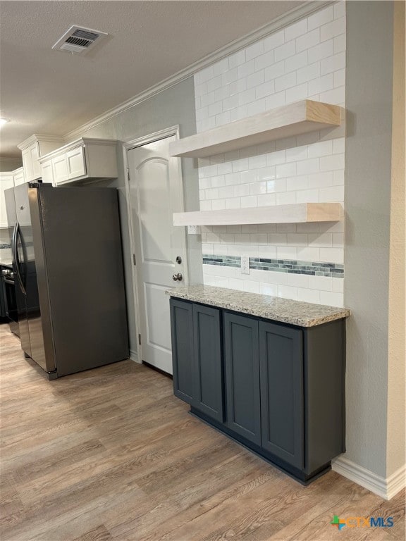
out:
M63 143L64 140L61 137L35 134L18 145L23 157L26 182L41 178L42 172L38 161L39 158L61 147ZM43 180L43 182L47 181Z

